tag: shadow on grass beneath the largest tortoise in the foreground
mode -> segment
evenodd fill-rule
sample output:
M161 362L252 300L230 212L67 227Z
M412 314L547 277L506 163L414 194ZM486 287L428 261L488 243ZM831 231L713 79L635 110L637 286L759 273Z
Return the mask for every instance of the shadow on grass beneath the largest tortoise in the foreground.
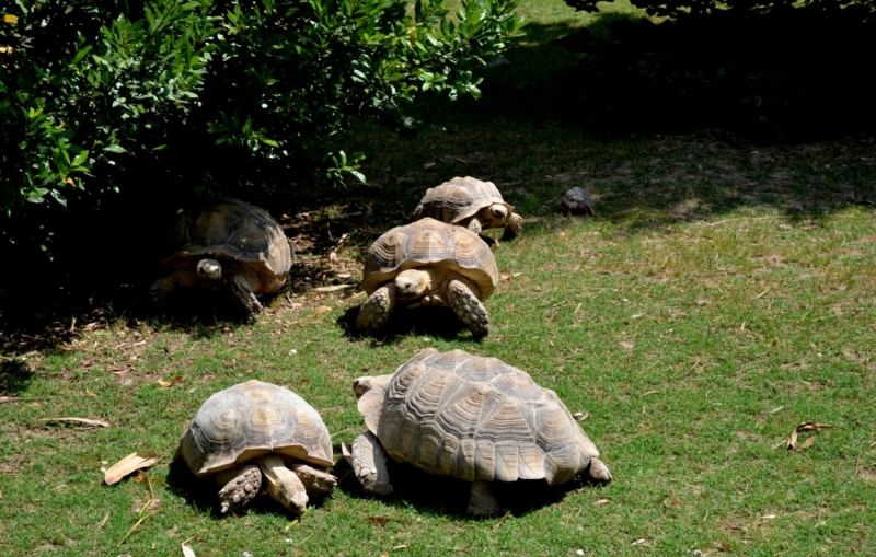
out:
M349 465L342 460L333 469L341 489L350 497L370 498L362 492ZM446 517L454 519L473 519L468 513L468 500L471 484L461 479L426 474L414 466L389 462L389 476L394 494L383 498L388 504L414 507L424 515ZM579 478L562 486L548 486L544 480L518 480L511 483L496 481L494 494L503 512L522 517L543 507L558 503L569 492L579 488L595 488L583 484ZM494 517L492 520L500 517ZM487 519L491 520L491 519Z

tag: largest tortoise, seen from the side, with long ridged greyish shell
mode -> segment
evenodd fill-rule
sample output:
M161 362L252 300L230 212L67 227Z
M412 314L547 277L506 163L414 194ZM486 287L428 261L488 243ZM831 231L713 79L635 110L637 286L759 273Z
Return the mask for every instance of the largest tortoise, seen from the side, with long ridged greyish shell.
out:
M354 390L368 431L342 452L368 494L393 492L388 457L471 481L475 517L498 512L496 481L611 481L556 394L496 358L426 348L392 374L357 379Z

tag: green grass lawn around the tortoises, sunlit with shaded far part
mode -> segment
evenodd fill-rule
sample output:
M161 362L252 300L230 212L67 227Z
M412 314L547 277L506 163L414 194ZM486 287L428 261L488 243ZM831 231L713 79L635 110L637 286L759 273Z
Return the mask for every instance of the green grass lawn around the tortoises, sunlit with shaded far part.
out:
M526 223L494 252L507 280L485 304L489 336L474 343L447 312L422 310L359 337L358 286L300 283L254 326L211 307L105 307L53 324L78 334L42 349L7 328L0 553L180 556L186 542L198 557L876 555L873 138L592 135L554 104L578 59L554 40L596 16L561 0L521 11L532 33L511 69L487 76L485 97L425 108L445 130L362 123L350 141L367 151L368 186L266 207L288 213L311 287L356 285L369 243L426 187L496 183ZM556 212L572 186L593 195L596 218ZM339 462L335 495L291 521L264 498L221 517L216 489L171 465L200 404L250 379L309 401L339 459L364 430L353 379L427 346L498 357L556 391L614 481L516 486L508 514L471 520L464 485L395 468L396 495L369 499ZM60 417L111 427L48 421ZM833 427L786 450L805 421ZM135 451L160 461L105 486L101 468Z

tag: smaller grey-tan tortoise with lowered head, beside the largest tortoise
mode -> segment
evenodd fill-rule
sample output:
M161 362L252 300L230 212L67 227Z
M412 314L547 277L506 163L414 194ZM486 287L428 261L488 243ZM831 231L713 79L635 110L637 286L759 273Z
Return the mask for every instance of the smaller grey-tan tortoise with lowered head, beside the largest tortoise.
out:
M255 380L210 396L173 459L185 460L199 478L216 479L222 513L249 504L263 475L270 497L296 514L310 497L331 495L337 483L321 469L334 463L316 410L288 388Z

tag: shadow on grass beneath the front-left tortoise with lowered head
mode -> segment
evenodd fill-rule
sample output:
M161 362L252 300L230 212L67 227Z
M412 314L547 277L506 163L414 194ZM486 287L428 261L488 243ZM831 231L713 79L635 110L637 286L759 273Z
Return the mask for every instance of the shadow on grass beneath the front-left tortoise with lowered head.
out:
M171 463L168 472L168 487L180 497L183 497L186 503L200 512L209 512L212 520L222 520L224 518L235 518L233 514L222 514L219 510L219 486L210 479L196 478L188 466L182 461L174 461ZM308 501L308 509L319 509L323 504L322 498L311 498ZM257 496L244 509L243 514L246 513L264 513L264 514L279 514L284 517L293 518L287 509L275 501L267 494Z

